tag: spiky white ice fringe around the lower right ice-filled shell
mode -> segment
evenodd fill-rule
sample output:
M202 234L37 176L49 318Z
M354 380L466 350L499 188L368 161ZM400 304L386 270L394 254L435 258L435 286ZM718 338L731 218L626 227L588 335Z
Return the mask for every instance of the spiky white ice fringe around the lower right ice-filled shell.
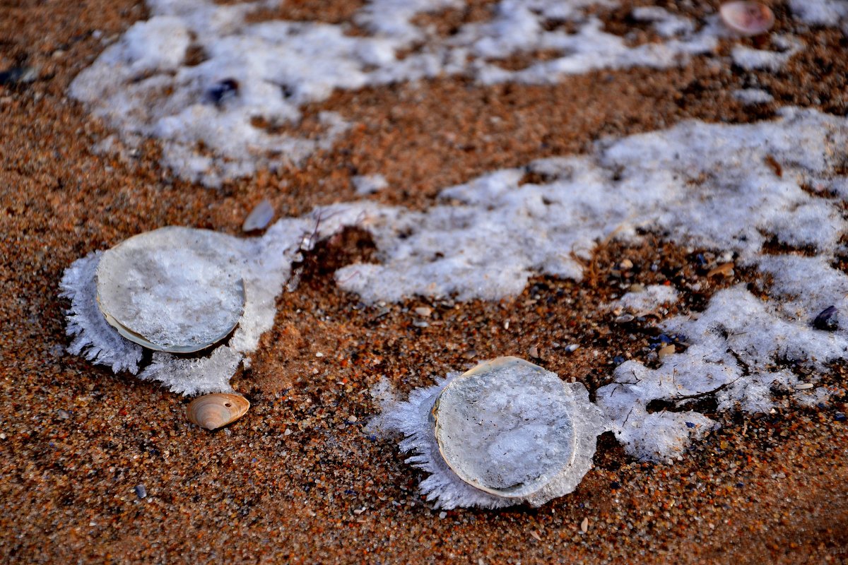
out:
M450 373L444 379L438 379L436 385L416 389L410 392L405 402L393 400L388 381L382 381L381 396L387 399L382 405L382 414L375 421L374 427L386 433L399 433L404 436L400 441L401 451L412 454L407 463L421 468L429 476L421 481L421 494L427 496L436 508L482 507L503 508L516 504L527 503L539 507L545 502L558 496L564 496L577 488L589 468L592 467L592 457L596 448L597 435L607 429L605 418L589 402L589 392L579 383L563 383L566 392L571 396L569 412L572 415L576 434L575 455L572 463L561 474L550 479L542 489L529 496L505 498L479 490L458 477L445 463L438 450L438 443L433 432L430 411L439 393L444 387L460 376L460 373ZM556 377L556 375L554 375ZM558 377L556 377L558 379ZM520 390L514 390L516 398L521 400ZM543 415L545 416L545 415ZM547 414L557 418L556 414ZM482 457L493 457L494 464L498 463L497 453L482 454ZM481 462L481 465L484 463ZM527 461L533 465L533 461Z

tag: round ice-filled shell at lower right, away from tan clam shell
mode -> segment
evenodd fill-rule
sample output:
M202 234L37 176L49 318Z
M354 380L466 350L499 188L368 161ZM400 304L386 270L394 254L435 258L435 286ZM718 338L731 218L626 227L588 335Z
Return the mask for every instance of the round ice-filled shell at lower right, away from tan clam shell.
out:
M531 502L577 486L606 425L583 385L518 357L498 357L451 380L431 422L439 453L460 479Z

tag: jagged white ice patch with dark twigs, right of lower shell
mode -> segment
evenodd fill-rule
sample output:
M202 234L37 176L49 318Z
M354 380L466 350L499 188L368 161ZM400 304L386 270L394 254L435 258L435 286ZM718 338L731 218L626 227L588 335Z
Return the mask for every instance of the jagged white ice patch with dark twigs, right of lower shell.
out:
M841 283L846 281L842 275ZM806 284L811 282L818 281L808 279ZM786 363L823 368L845 357L848 330L814 330L811 313L803 314L801 319L787 316L777 301L762 301L744 285L719 291L696 319L681 317L663 324L667 333L688 336L692 345L685 352L666 357L656 369L635 361L622 363L614 382L597 391L598 405L616 423L616 436L628 453L642 459L678 455L714 423L692 412L649 413L650 402L680 408L712 397L722 412L767 413L774 406L772 387L791 390L798 384L798 377L784 368ZM646 433L658 418L665 431Z

